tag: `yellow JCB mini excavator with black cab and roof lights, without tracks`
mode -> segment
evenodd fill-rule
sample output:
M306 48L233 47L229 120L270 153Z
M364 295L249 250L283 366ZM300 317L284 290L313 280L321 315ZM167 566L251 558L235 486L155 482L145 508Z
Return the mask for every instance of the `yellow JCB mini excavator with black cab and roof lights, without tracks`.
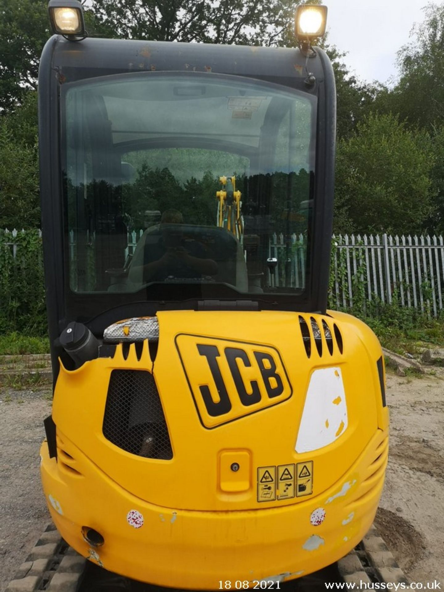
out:
M57 529L168 587L276 587L331 564L377 510L388 411L377 338L327 310L319 23L273 49L85 38L79 2L50 12L41 475Z

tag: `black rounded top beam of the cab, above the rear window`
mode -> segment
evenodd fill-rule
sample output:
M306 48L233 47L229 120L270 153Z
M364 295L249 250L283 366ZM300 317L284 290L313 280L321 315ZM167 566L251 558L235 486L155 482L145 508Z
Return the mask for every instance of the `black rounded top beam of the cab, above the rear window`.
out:
M74 82L96 76L123 72L204 72L249 76L258 79L291 79L294 88L316 93L324 78L324 52L308 59L307 69L316 84L307 88L306 57L298 48L176 43L171 41L135 41L85 38L68 41L53 36L52 67L60 82ZM49 49L49 48L48 48ZM43 52L43 60L49 52ZM42 67L44 65L42 64Z

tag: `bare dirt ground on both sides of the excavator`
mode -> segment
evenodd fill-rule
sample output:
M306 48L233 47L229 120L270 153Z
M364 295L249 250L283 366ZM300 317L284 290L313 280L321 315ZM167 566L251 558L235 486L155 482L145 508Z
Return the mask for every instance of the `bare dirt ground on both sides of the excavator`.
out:
M49 522L38 449L49 387L0 390L0 590ZM444 588L444 372L387 377L390 456L377 526L411 581Z

